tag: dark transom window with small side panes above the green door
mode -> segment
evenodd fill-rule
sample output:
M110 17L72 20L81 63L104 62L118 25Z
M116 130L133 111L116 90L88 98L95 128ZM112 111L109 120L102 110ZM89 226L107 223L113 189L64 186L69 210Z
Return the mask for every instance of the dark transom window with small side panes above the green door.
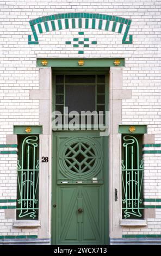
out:
M105 111L105 75L56 75L55 111Z

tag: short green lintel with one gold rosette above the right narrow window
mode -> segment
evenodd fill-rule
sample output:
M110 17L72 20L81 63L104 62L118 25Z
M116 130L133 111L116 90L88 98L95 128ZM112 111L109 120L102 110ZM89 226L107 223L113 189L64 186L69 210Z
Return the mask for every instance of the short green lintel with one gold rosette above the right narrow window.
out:
M135 131L134 132L130 132L129 131L129 127L131 126L135 126ZM135 125L135 124L131 124L131 125L119 125L119 133L124 133L124 134L141 134L141 133L147 133L147 125Z

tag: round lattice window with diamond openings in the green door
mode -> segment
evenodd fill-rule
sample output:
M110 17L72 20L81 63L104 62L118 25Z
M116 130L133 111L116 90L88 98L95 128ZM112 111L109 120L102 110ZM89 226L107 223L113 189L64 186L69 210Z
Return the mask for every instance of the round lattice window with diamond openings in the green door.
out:
M59 148L59 166L67 178L94 177L100 172L102 153L94 138L67 139Z

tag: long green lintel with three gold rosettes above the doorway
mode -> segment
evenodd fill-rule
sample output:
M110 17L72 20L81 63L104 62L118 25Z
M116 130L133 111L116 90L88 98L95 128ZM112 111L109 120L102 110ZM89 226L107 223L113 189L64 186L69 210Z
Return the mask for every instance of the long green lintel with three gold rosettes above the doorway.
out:
M75 41L75 40L74 40ZM112 59L84 59L84 65L79 66L79 59L46 59L47 65L46 67L52 66L53 68L109 68L110 66L115 66L114 61L116 58ZM118 58L120 60L120 66L125 66L125 59ZM37 59L37 66L43 67L42 60ZM116 66L115 66L116 67ZM136 126L136 125L135 125ZM144 126L144 125L143 125Z

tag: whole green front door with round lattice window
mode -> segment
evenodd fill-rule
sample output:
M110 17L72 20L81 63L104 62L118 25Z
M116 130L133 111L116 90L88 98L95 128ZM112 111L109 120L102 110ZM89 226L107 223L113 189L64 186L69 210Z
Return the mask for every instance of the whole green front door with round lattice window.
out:
M53 244L108 243L107 139L53 133Z

